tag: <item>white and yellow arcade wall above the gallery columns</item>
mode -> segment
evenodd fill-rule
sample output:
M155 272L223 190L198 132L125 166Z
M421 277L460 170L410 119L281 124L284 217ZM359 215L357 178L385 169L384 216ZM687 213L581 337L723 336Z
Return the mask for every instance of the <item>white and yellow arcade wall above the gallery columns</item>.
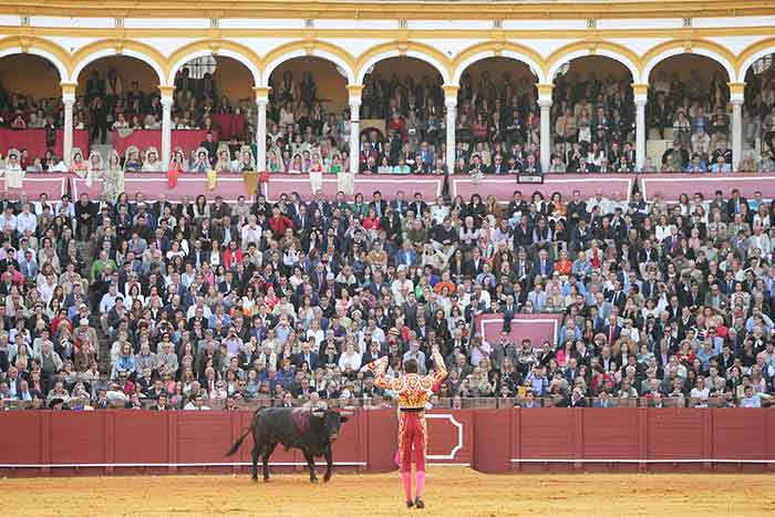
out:
M4 27L0 25L0 55L3 51L14 52L22 49L39 55L51 56L66 82L79 81L79 77L72 76L73 71L80 70L83 63L87 63L95 56L111 52L135 55L157 63L156 70L161 80L152 79L153 74L146 75L144 70L136 72L127 70L128 74L137 75L143 83L143 90L147 91L158 83L168 85L173 66L179 65L187 59L186 56L203 55L203 51L211 51L216 55L237 58L251 70L248 74L236 63L228 63L223 71L217 72L223 82L221 90L235 100L251 96L252 92L249 89L256 85L255 81L260 81L262 83L260 86L266 85L268 81L264 75L266 66L269 63L277 63L286 54L332 56L341 68L347 70L350 82L360 81L355 77L361 77L364 69L383 55L424 56L425 61L433 63L443 72L444 81L451 84L457 81L464 63L489 55L526 56L537 71L541 83L550 82L554 72L567 59L586 54L608 55L627 63L632 71L633 82L645 83L649 80L645 72L651 70L654 63L681 51L701 53L717 60L728 71L732 82L742 80L744 69L747 69L755 59L775 51L775 2L756 0L734 2L734 11L730 17L717 20L707 18L712 15L714 8L724 6L723 2L714 0L702 2L688 0L680 3L649 0L583 3L527 1L519 3L519 9L515 10L506 9L512 6L506 2L490 4L384 1L354 4L320 0L314 3L318 10L310 14L312 19L307 20L303 29L300 27L304 23L303 20L292 17L298 12L296 9L311 8L313 4L309 2L302 1L288 6L289 10L282 11L282 20L269 20L272 15L266 15L267 20L255 19L259 15L259 11L270 7L275 9L276 15L279 14L281 6L279 0L237 2L240 8L244 8L239 22L234 19L227 20L232 15L237 3L221 3L218 0L208 2L208 7L213 9L192 14L200 18L185 20L175 20L172 15L168 20L164 18L165 9L177 6L177 0L143 2L144 9L137 8L134 3L127 8L126 2L117 0L100 1L101 18L99 19L96 11L90 11L97 2L85 0L78 6L72 6L72 2L65 0L41 0L35 2L40 10L38 8L31 10L32 17L22 21L22 23L29 22L29 25L19 25L18 21L13 25L14 20L19 20L18 15L2 15L3 10L11 4L13 9L7 12L19 13L27 12L25 6L32 6L32 0L16 2L0 0L0 23L8 23ZM188 3L188 10L192 9L192 4L196 6L197 2ZM354 6L355 15L358 15L361 9L371 12L370 10L378 4L381 7L381 17L376 17L376 13L372 17L381 19L376 23L364 21L362 28L359 28L358 23L353 24L352 20L327 20L323 23L324 18L332 12L339 12L343 6ZM71 9L65 9L64 6ZM117 6L122 6L123 10L114 12ZM220 6L223 9L214 10L214 6ZM415 7L417 10L413 11ZM450 22L474 7L480 8L476 15L465 21ZM582 9L585 7L586 11ZM602 7L610 9L602 12L600 11ZM702 12L700 7L703 8ZM490 14L493 8L500 9L498 15ZM530 21L534 8L549 13L542 23ZM332 11L329 12L327 9ZM659 14L654 14L651 9L658 12L660 9L669 10L673 18L658 23L652 20ZM751 19L750 22L737 18L750 15L755 9L758 9L761 14L769 17ZM431 17L428 14L431 10L436 15ZM564 14L560 15L559 11L564 11ZM179 17L180 12L178 10L175 15ZM44 13L59 14L60 21L56 18L45 19ZM68 18L62 17L65 13ZM95 18L91 20L79 18L87 17L90 13ZM599 24L600 29L595 25L596 20L614 14L632 19L607 21ZM682 19L675 18L680 14L696 14L699 18L694 22L691 18L684 19L682 27ZM121 29L114 29L113 20L106 18L107 15L118 17L116 23L120 25L124 22L126 24ZM153 15L159 18L152 19ZM213 27L207 29L208 20L205 17L209 15L216 18ZM637 15L641 18L636 18ZM254 20L250 19L251 17ZM409 20L406 27L399 28L400 24L393 17ZM438 17L446 18L440 22ZM499 20L503 20L503 28L497 24ZM520 21L524 23L519 23ZM585 29L587 22L589 25ZM218 23L223 23L223 28ZM189 25L189 29L185 29L184 25ZM190 29L194 25L200 28ZM609 65L611 63L604 64L604 68L608 69ZM479 63L475 63L469 70L475 70L476 66L479 66ZM484 70L488 65L482 66ZM227 74L226 70L234 73ZM675 71L686 72L682 66L676 66ZM410 71L410 73L414 72ZM528 75L525 68L519 65L515 73ZM324 79L324 81L328 80ZM327 96L331 96L333 103L347 102L344 94L339 93L338 84L332 82L321 84L321 87Z

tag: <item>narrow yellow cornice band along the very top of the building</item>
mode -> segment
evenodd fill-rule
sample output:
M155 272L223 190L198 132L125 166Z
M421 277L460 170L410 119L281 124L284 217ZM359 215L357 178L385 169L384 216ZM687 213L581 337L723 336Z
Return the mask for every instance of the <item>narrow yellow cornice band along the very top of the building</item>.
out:
M25 9L27 8L27 9ZM356 1L356 0L2 0L0 12L34 12L66 17L179 18L202 10L221 18L355 18L355 19L606 19L665 17L734 17L775 13L772 0L629 0L629 1Z

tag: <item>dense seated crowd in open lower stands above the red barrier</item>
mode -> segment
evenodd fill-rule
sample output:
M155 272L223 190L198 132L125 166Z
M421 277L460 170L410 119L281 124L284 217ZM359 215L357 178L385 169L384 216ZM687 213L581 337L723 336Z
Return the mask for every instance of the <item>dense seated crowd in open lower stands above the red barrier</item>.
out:
M426 372L433 343L450 370L434 401L458 404L751 406L775 390L775 204L760 193L0 193L0 214L4 407L389 401L361 366ZM512 341L515 314L542 311L562 314L554 342ZM503 316L499 337L472 332L482 313Z

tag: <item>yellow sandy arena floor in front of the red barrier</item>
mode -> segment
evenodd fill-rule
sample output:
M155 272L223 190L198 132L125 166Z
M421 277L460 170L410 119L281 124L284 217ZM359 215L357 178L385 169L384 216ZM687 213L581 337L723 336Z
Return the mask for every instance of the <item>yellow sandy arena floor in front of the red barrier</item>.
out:
M397 474L2 479L3 516L775 515L767 475L484 475L428 473L424 510L407 510Z

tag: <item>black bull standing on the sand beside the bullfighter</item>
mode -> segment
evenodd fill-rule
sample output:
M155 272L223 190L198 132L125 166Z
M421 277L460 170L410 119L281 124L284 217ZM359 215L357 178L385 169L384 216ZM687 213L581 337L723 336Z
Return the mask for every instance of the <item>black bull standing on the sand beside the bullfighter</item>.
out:
M333 452L331 446L337 440L339 427L348 417L332 410L302 410L298 407L261 409L254 415L250 427L242 433L227 456L234 455L242 445L245 438L252 432L252 479L258 479L258 455L264 455L264 480L269 480L269 456L277 444L286 451L299 448L307 459L310 469L310 482L317 483L314 474L314 457L326 457L326 475L323 480L331 479L333 472Z

